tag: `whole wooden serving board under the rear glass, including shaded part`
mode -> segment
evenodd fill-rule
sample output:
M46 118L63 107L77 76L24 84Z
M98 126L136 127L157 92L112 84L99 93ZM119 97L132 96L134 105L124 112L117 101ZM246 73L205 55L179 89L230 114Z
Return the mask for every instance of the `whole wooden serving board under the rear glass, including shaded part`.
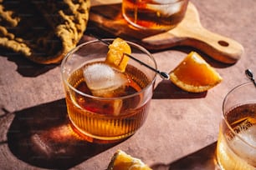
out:
M122 17L120 3L91 7L90 23L116 37L136 41L149 50L190 46L224 63L237 62L243 54L240 43L202 27L197 8L192 2L188 4L182 23L168 32L148 32L133 28Z

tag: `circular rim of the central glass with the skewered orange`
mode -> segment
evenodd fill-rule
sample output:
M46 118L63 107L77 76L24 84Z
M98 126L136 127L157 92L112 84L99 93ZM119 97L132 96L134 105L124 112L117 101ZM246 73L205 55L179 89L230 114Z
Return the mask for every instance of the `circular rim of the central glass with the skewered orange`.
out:
M115 38L102 38L103 41L107 41L107 42L112 42L115 40ZM153 72L154 73L154 76L152 77L152 80L150 81L150 83L148 83L146 85L146 87L143 87L141 89L141 91L139 92L135 92L135 93L132 93L132 94L129 94L129 95L125 95L125 96L121 96L121 97L97 97L97 96L93 96L93 95L90 95L90 94L87 94L87 93L84 93L84 92L81 92L79 90L77 90L74 86L72 86L68 81L67 81L67 78L64 78L64 65L65 65L65 62L68 60L68 58L74 53L76 52L77 50L79 50L80 47L83 47L87 44L91 44L91 43L95 43L95 42L100 42L102 44L104 44L104 42L100 41L99 39L95 39L95 40L90 40L88 42L82 42L80 43L77 47L74 47L72 50L70 50L65 56L64 56L64 59L62 60L61 64L60 64L60 71L61 71L61 77L62 77L62 80L64 81L64 83L69 87L71 88L74 92L77 92L79 93L80 95L84 96L84 97L90 97L90 98L94 98L94 99L100 99L100 100L117 100L117 99L125 99L125 98L131 98L131 97L135 97L135 96L138 96L138 95L141 95L141 93L145 92L148 88L150 88L151 86L154 85L154 83L156 82L156 72ZM132 47L137 47L141 52L145 52L145 54L151 58L151 60L153 61L153 64L154 64L154 67L157 69L157 64L156 64L156 59L152 56L151 52L149 52L148 50L146 50L145 47L142 47L141 45L135 43L135 42L131 42L131 41L126 41L128 44L132 45ZM106 44L105 44L106 45ZM107 45L106 45L107 46Z

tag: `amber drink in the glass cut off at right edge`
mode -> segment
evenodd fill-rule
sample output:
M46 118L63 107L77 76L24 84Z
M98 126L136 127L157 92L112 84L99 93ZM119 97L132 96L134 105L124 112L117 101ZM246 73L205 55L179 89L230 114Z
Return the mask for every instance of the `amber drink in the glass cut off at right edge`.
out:
M218 136L217 158L222 169L256 168L256 104L244 104L227 113L233 131L222 125Z

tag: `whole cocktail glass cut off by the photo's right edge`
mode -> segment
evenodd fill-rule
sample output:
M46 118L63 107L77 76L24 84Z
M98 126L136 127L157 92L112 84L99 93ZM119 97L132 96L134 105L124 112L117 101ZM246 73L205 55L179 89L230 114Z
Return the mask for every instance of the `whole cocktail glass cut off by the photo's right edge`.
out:
M217 158L222 169L256 169L256 87L253 82L233 88L223 101Z

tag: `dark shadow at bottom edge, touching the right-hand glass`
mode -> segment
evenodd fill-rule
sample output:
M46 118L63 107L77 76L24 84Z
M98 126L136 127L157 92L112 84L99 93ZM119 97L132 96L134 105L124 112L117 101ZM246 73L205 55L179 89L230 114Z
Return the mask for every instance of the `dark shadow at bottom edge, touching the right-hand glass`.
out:
M151 166L154 170L201 170L215 169L218 170L216 161L217 143L212 143L199 151L187 155L185 158L178 159L170 164L155 164Z

